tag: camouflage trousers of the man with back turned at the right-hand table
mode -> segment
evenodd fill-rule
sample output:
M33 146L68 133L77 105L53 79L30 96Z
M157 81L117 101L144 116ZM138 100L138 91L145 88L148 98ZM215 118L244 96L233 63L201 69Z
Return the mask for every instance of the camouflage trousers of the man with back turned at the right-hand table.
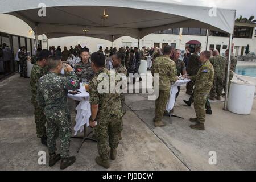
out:
M170 97L169 90L159 90L159 96L155 100L155 118L154 122L162 121L164 111L166 110L166 105Z

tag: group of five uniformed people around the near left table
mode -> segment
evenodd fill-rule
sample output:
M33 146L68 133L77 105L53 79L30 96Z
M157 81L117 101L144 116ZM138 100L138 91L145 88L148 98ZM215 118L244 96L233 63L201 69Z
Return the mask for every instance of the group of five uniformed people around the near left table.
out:
M80 51L80 57L81 62L72 68L63 63L60 57L51 56L51 52L46 49L38 54L31 71L30 81L31 102L35 108L36 133L42 144L48 147L49 166L54 166L57 161L61 160L60 169L65 169L75 162L75 156L69 156L72 123L67 106L67 95L68 90L79 89L82 79L86 79L89 81L92 111L89 125L95 128L99 153L96 163L109 168L108 146L111 148L110 159L115 160L116 149L119 140L122 139L122 117L125 114L122 109L124 96L118 93L112 94L112 92L98 93L100 83L98 76L101 73L109 76L110 84L110 71L105 68L105 55L102 52L94 52L90 56L89 49L84 48ZM122 55L116 53L112 59L115 74L127 75L126 68L121 64ZM63 69L65 69L65 75L60 74ZM57 137L60 138L60 154L56 154Z

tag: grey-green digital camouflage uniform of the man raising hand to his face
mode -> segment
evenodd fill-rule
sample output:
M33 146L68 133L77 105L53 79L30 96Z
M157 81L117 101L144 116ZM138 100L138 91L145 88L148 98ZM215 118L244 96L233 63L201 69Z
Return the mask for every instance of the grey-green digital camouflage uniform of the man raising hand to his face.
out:
M56 152L56 138L60 137L60 156L69 157L71 117L67 105L68 90L79 89L75 72L59 76L49 72L38 81L37 101L47 118L47 147L49 154Z

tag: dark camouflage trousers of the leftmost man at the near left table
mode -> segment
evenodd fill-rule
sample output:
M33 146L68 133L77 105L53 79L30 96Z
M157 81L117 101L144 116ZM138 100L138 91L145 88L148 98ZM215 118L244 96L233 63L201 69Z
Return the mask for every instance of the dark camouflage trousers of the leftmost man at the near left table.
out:
M43 109L41 109L38 104L33 103L34 105L34 115L36 123L36 134L38 138L46 136L46 116L44 115Z

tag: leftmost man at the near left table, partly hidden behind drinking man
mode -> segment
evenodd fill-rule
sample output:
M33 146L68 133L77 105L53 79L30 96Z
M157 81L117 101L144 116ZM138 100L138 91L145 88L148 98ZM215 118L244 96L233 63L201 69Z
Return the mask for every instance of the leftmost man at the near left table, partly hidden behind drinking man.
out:
M39 60L33 65L30 78L30 86L32 91L31 103L34 106L34 115L36 123L36 134L38 138L41 138L41 143L47 146L47 135L46 135L46 116L42 108L38 106L36 101L36 93L38 89L38 80L40 77L46 75L47 59L51 55L51 52L44 49L39 53Z

